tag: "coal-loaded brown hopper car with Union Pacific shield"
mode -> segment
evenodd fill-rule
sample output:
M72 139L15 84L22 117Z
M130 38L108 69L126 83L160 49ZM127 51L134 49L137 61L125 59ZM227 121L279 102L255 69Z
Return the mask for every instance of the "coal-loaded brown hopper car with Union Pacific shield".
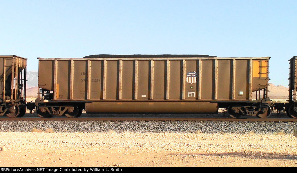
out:
M81 109L88 113L215 113L219 107L229 107L232 117L267 117L269 58L207 55L38 58L37 111L42 117L77 117ZM257 92L255 101L252 92ZM264 102L267 103L261 104Z

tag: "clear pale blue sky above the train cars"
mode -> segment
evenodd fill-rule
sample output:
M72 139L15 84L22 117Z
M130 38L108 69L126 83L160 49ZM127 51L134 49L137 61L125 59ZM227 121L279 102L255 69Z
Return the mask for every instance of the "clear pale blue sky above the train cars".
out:
M271 56L270 82L288 85L297 56L297 1L0 0L0 55Z

